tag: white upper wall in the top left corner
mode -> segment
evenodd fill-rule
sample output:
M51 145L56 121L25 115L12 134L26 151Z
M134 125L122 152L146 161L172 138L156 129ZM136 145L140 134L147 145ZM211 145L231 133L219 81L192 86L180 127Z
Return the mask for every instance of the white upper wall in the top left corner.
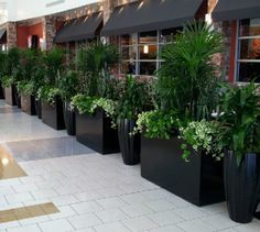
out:
M7 2L8 21L20 21L57 13L99 1L100 0L0 0L0 3ZM55 2L57 2L57 4L51 7L46 5Z

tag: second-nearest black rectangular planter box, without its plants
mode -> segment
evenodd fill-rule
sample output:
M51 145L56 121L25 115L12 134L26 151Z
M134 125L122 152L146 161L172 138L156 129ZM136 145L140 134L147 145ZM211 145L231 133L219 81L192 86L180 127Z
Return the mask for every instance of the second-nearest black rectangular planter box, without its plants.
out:
M111 129L111 120L102 110L94 115L76 113L76 139L104 155L120 151L117 130Z

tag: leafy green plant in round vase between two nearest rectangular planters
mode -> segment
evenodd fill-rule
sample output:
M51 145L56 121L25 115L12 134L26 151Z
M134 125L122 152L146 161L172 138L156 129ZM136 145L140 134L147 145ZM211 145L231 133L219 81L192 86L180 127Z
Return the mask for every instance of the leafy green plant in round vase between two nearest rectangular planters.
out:
M126 80L121 81L116 108L118 119L137 119L138 114L145 109L145 106L149 104L147 86L147 82L132 76L127 76Z

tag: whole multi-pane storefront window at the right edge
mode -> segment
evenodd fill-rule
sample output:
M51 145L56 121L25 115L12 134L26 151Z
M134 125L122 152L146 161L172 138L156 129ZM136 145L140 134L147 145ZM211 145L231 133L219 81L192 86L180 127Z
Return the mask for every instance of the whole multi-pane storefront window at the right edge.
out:
M240 21L238 47L238 81L260 82L260 19Z

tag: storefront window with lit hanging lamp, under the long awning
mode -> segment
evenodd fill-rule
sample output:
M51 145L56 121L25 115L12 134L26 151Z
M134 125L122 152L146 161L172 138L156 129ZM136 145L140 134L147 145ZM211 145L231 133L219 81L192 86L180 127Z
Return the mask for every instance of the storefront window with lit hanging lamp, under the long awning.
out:
M166 29L120 36L122 74L154 75L162 60L159 58L161 48L172 42L180 29Z

